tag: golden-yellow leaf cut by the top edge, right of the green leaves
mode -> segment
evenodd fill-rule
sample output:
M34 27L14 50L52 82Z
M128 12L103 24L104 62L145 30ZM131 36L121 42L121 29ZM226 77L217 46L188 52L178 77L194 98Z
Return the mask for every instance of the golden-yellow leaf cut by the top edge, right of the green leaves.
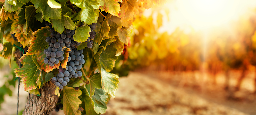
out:
M102 0L100 2L100 9L105 10L105 12L114 16L118 16L118 13L121 10L120 4L118 2L122 2L122 0Z

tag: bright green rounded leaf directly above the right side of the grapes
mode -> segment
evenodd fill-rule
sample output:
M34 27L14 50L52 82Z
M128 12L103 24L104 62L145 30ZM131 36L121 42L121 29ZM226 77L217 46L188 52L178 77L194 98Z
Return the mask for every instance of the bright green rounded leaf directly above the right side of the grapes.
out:
M74 34L74 41L77 42L85 42L87 41L88 37L90 37L90 27L84 26L84 27L77 27Z

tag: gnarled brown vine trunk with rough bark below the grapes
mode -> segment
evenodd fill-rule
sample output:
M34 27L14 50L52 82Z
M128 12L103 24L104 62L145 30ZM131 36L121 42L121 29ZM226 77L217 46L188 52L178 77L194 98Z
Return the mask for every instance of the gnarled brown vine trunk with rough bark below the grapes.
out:
M50 81L39 89L41 96L29 94L23 114L50 114L58 102L55 95L56 86Z

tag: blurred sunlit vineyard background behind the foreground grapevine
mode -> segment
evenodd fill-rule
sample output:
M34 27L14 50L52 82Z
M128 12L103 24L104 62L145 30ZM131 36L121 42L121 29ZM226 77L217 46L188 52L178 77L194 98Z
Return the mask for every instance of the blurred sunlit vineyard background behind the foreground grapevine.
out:
M256 0L171 0L128 29L106 114L256 114ZM9 64L0 57L0 114L16 112Z

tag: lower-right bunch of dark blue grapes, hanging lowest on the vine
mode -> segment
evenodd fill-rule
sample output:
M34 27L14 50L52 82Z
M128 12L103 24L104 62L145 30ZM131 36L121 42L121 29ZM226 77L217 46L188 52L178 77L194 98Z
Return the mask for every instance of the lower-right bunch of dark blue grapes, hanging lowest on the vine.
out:
M82 76L82 72L79 71L82 68L82 65L85 63L84 55L82 54L83 50L73 50L69 51L69 58L67 62L66 69L60 67L58 70L57 77L52 78L52 82L59 87L59 89L63 89L64 86L70 81L70 78L77 78Z

